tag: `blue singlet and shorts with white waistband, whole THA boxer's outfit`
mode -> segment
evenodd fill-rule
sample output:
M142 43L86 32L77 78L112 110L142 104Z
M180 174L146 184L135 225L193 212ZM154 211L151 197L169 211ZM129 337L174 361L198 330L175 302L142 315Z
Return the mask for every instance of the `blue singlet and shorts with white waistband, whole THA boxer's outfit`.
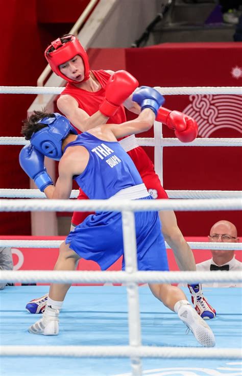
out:
M152 200L132 159L118 142L84 132L65 150L71 146L83 146L89 152L85 170L74 179L90 199ZM136 212L135 231L138 269L168 270L158 212ZM95 261L106 270L124 254L122 214L91 214L69 233L65 242L85 260Z

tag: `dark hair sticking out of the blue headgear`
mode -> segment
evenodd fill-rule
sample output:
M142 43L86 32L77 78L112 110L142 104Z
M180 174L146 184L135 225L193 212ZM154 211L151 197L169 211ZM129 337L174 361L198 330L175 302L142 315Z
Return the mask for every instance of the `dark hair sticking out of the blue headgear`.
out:
M25 139L31 139L33 133L46 127L46 124L38 123L41 119L44 119L44 117L55 117L55 115L52 112L34 111L31 116L22 121L23 126L21 129L21 134L25 137Z

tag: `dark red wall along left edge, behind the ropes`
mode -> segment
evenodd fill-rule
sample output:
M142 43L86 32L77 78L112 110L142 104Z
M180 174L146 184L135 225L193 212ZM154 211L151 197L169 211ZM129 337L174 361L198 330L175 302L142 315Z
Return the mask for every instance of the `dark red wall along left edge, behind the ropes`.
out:
M0 12L0 85L35 86L44 68L36 18L36 0L2 2ZM1 95L1 136L20 136L21 121L32 95ZM0 147L0 186L28 188L29 179L18 165L18 146ZM30 234L29 213L0 213L0 233Z

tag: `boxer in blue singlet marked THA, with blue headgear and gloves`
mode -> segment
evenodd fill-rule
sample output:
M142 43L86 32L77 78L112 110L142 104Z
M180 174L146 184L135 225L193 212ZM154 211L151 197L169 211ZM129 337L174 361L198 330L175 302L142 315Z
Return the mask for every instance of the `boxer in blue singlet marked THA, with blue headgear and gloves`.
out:
M137 86L128 74L130 91ZM133 100L141 106L136 120L108 124L76 135L67 119L60 114L36 113L25 126L30 146L19 155L20 165L34 179L49 199L68 199L75 179L90 199L152 200L134 163L117 142L117 138L150 129L163 97L153 88L138 88ZM59 160L56 186L44 167L44 155ZM158 212L135 214L137 263L139 270L168 270L164 240ZM60 246L55 270L75 270L80 257L99 263L106 270L123 255L122 218L120 213L97 212L69 233ZM210 327L198 315L177 287L150 284L153 294L165 306L178 313L203 346L214 346ZM31 325L32 334L57 335L59 311L69 284L52 284L45 312Z

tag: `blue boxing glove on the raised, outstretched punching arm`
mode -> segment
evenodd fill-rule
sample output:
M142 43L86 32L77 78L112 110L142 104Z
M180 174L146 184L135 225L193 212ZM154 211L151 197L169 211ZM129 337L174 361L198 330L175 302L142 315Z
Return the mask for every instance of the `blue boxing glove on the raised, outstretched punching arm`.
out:
M140 86L133 93L133 101L137 102L141 110L150 108L157 115L157 111L165 102L164 97L153 87Z

